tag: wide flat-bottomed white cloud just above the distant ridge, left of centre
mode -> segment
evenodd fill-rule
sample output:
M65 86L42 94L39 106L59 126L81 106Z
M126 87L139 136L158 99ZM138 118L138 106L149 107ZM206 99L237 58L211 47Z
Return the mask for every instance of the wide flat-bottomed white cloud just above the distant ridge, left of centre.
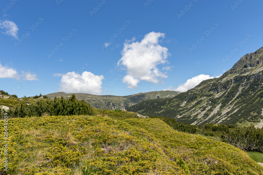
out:
M84 71L82 75L76 72L66 74L56 73L53 76L62 76L60 81L60 91L66 93L88 93L94 95L102 94L102 80L104 76L94 75L91 72Z

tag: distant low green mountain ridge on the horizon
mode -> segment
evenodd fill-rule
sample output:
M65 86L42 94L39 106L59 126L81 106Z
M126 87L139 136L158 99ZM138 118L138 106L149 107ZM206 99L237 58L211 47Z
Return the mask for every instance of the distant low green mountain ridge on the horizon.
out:
M134 94L130 96L111 96L111 95L99 96L99 95L84 94L84 93L76 93L75 95L78 99L84 99L92 107L98 109L107 108L110 110L114 110L114 109L128 108L131 105L137 104L144 100L172 98L177 96L178 94L180 94L180 92L153 91L153 92ZM71 95L72 93L67 94L65 92L56 92L56 93L47 94L46 96L48 98L54 98L55 96L57 97L64 96L64 98L68 99Z

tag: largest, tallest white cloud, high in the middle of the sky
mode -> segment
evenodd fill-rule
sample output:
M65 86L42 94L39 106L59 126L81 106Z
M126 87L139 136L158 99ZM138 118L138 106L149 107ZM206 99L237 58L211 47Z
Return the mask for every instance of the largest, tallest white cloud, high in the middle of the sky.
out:
M128 88L138 88L138 83L142 80L158 83L158 77L168 77L157 67L159 64L167 63L166 58L170 55L166 47L158 44L160 38L164 36L163 33L151 32L140 42L135 42L135 37L125 41L118 66L122 65L127 71L123 83L127 83Z

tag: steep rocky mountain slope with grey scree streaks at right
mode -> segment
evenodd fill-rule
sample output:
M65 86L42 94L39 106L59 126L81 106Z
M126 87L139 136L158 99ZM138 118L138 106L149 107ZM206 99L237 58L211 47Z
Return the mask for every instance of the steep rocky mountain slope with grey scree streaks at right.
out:
M174 118L194 125L263 126L263 47L246 54L219 78L169 99L146 100L128 111Z

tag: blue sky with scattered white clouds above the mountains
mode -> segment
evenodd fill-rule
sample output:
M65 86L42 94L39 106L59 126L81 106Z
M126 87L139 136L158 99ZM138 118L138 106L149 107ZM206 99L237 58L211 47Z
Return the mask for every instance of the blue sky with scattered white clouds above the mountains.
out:
M0 89L18 97L186 91L263 46L262 1L0 5Z

